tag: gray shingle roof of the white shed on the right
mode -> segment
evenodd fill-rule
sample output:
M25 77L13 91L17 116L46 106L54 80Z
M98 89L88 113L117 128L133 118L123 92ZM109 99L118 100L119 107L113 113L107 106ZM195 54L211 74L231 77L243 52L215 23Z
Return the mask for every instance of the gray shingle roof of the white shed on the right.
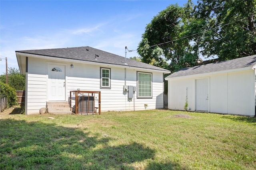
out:
M189 76L194 74L203 74L209 72L217 72L224 70L232 70L237 68L252 67L256 64L256 55L242 57L233 60L221 61L217 63L210 63L205 65L199 65L194 67L182 68L166 78L174 78L181 76Z

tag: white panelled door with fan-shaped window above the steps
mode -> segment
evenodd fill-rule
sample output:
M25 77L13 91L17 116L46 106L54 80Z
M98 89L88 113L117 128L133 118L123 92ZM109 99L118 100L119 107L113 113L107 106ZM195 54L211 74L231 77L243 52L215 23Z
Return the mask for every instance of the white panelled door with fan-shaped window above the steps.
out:
M65 100L65 66L48 64L48 100Z

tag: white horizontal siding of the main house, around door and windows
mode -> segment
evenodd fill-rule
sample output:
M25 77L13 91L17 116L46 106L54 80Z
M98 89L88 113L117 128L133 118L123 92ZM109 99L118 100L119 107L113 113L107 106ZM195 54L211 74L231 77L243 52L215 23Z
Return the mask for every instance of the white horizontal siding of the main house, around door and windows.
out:
M28 98L27 113L39 113L39 109L46 107L47 95L47 64L58 61L44 61L36 58L28 59ZM63 63L62 63L63 64ZM100 65L84 63L66 64L66 101L69 100L70 91L86 90L101 92L101 111L132 111L144 109L163 108L163 74L152 72L152 99L128 100L128 93L123 91L125 85L125 68L102 66L111 69L111 89L100 88ZM73 64L73 68L70 65ZM126 68L126 85L137 86L137 71ZM73 103L72 103L73 104ZM144 107L148 104L148 107ZM95 106L98 104L95 102Z

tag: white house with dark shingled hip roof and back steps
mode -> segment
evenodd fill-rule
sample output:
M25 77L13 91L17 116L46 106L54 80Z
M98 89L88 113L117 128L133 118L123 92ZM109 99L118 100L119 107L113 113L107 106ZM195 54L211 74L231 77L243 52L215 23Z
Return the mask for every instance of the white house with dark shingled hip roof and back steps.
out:
M68 102L70 91L77 89L100 91L101 111L164 107L169 70L88 46L16 51L16 57L26 74L26 114L39 113L50 101ZM134 89L133 95L126 87Z

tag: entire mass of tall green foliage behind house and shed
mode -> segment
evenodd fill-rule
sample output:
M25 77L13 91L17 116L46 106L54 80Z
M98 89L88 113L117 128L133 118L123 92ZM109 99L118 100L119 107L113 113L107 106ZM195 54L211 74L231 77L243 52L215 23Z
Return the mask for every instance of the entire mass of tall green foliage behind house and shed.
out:
M199 58L220 61L256 54L256 0L191 0L168 6L148 23L138 53L142 62L168 63L174 72Z

